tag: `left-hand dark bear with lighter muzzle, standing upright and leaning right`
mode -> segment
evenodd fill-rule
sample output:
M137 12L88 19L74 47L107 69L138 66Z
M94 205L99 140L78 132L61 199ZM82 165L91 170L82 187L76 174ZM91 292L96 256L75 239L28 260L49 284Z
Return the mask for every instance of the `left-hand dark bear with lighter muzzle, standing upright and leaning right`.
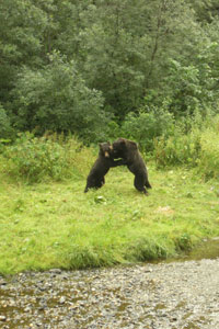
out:
M113 147L110 141L101 143L99 147L99 158L88 175L84 193L88 192L89 189L102 188L105 183L104 175L108 172L110 168L126 164L126 161L123 159L114 161Z

